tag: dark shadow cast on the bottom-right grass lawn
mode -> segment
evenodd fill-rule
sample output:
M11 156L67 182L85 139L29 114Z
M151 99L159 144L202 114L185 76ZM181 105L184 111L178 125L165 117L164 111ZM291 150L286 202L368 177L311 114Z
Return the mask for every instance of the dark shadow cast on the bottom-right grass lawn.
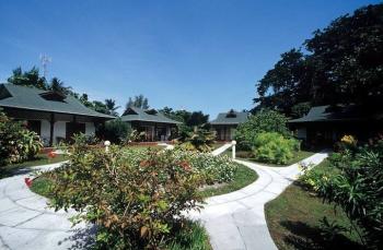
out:
M280 223L291 234L283 237L286 245L293 249L363 249L359 243L351 241L341 234L336 234L332 241L324 239L323 230L301 222L285 221Z

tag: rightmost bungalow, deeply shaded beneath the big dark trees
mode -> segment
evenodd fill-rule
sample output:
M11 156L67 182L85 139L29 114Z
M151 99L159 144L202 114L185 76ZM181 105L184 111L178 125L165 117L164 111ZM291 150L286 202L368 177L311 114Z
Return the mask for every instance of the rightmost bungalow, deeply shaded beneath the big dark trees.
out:
M316 106L304 117L288 122L298 139L310 146L329 146L346 134L367 140L382 132L383 116L361 106Z

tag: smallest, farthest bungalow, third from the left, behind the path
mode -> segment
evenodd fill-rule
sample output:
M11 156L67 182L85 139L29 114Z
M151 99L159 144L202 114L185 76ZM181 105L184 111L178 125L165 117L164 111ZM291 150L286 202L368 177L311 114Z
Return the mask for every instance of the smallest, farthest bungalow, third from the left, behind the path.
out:
M217 131L217 140L233 140L236 127L240 123L246 122L248 116L248 112L237 112L235 110L219 114L216 120L210 122L211 127Z

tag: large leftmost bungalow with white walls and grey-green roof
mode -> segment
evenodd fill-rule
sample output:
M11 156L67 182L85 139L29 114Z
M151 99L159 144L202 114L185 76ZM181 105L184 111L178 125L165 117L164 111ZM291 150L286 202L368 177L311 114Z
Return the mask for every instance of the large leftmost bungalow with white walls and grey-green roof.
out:
M94 133L96 123L115 118L86 108L73 96L14 84L0 84L0 107L9 117L25 120L46 146L74 133Z

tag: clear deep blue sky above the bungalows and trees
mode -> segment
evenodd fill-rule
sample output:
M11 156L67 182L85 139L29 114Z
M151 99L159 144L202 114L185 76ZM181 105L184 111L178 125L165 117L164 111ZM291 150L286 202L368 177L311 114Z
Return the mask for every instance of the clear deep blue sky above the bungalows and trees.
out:
M125 106L143 94L153 108L213 118L249 109L255 84L280 53L300 47L363 0L0 0L0 81L53 58L58 76L92 99Z

